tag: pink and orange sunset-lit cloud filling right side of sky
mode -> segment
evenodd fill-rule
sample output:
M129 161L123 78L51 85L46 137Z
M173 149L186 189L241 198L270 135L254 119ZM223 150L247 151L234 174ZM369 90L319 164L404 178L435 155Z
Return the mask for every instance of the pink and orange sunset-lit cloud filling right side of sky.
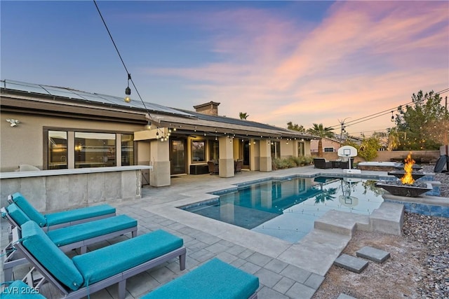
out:
M184 78L203 94L194 104L222 102L220 114L330 126L447 88L447 16L445 2L428 1L337 1L315 23L262 9L209 13L201 24L220 61L149 72Z

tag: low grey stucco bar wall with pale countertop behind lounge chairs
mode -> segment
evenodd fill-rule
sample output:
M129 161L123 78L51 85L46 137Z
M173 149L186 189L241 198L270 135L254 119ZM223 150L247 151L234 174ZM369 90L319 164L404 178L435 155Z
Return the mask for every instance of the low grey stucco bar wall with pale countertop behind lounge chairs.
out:
M38 211L61 211L90 204L135 200L142 196L143 167L58 169L1 173L1 206L20 192Z

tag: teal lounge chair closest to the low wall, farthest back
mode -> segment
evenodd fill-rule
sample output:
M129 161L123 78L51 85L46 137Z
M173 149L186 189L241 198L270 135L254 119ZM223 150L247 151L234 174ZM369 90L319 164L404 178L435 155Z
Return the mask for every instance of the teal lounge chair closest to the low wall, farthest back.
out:
M28 218L32 221L36 221L41 228L45 227L48 230L111 217L115 216L116 213L114 207L109 206L109 204L101 204L98 206L72 209L69 211L60 211L53 214L43 215L34 209L25 197L18 192L13 195L9 195L8 202L17 204L18 207L22 209L25 214L27 214Z

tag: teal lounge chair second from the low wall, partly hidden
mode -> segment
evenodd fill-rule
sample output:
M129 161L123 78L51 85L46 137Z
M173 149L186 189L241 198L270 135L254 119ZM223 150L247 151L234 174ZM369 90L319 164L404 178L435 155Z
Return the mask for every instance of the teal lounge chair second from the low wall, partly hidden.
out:
M19 229L22 224L30 220L16 204L10 204L7 208L1 208L1 216L6 218L12 227ZM49 230L46 234L62 251L67 252L79 248L81 253L86 253L87 246L124 235L128 232L131 233L132 237L137 236L138 221L126 215L119 215ZM12 243L2 249L2 260L7 281L12 278L13 267L27 262L25 258L15 255Z

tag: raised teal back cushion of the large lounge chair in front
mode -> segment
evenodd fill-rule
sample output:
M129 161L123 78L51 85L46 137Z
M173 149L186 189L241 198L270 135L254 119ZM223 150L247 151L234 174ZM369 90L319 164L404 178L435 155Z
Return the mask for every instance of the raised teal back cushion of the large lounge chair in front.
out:
M68 256L56 246L34 221L22 225L22 245L43 267L72 290L83 285L83 277Z

